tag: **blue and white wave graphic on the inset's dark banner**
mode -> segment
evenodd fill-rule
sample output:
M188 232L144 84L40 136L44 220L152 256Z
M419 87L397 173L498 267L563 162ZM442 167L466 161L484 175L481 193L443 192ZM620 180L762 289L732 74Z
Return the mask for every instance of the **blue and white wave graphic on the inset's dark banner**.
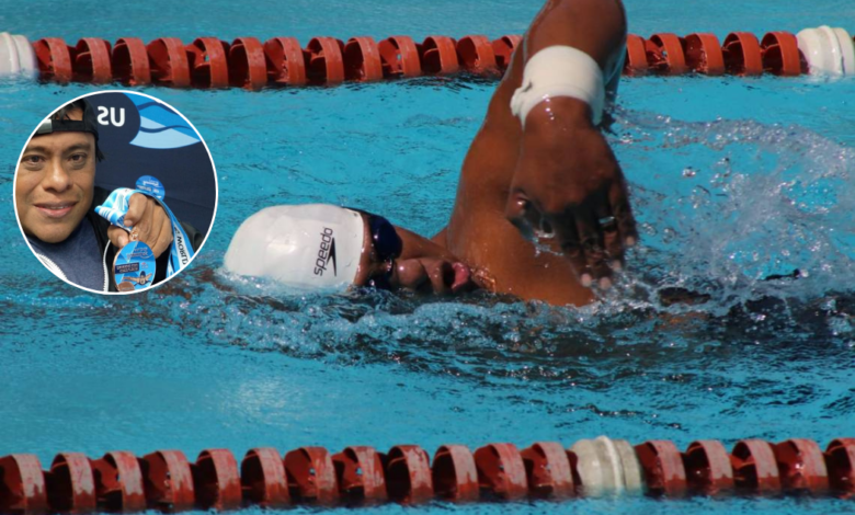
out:
M140 95L128 94L127 96L139 111L139 133L130 145L171 149L202 141L193 127L166 105Z

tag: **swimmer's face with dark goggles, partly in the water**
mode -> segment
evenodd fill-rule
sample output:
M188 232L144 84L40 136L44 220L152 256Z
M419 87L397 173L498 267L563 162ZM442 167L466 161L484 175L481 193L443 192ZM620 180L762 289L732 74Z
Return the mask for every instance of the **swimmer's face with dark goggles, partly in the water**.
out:
M354 284L440 295L474 287L471 272L443 247L385 218L362 213L365 239ZM400 250L389 255L389 250Z

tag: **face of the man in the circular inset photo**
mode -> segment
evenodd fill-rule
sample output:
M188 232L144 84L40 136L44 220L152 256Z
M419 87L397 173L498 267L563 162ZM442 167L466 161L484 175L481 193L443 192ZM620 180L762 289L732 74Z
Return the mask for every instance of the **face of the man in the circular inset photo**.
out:
M68 119L83 119L71 111ZM59 243L80 225L92 204L95 137L89 133L36 135L18 164L15 205L24 233Z

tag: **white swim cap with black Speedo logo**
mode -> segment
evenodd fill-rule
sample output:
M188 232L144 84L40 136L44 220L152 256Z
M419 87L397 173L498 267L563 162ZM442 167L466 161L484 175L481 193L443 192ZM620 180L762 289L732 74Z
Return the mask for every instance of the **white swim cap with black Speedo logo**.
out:
M267 207L238 228L226 270L300 288L343 289L356 278L364 225L362 215L338 206Z

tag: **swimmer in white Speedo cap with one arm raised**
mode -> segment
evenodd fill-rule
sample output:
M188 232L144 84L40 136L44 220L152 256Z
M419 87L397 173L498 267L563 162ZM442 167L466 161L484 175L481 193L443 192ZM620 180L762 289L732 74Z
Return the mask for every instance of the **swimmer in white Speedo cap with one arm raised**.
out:
M549 0L490 101L443 230L428 239L358 209L273 206L238 229L226 270L305 289L486 288L591 302L638 240L601 133L625 44L619 0Z

